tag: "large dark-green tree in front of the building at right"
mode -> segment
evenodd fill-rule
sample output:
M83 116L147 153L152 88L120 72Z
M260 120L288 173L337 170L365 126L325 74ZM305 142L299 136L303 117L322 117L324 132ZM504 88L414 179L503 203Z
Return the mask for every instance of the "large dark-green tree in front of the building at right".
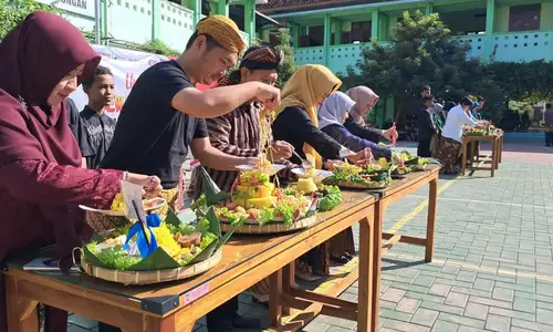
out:
M347 69L344 85L363 84L380 96L393 97L399 123L416 111L425 84L445 100L458 101L477 93L486 95L488 105L495 105L502 93L493 76L480 60L468 59L468 46L451 37L437 13L424 15L420 11L406 11L387 43L372 43L356 66ZM484 113L499 118L501 111L493 106Z

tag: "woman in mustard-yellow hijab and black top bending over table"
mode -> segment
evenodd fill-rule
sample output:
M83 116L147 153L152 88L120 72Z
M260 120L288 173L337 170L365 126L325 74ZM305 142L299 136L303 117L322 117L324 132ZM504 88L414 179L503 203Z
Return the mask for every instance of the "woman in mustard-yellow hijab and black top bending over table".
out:
M325 66L306 64L300 66L282 90L282 104L274 111L274 139L292 144L294 149L311 162L316 168L322 168L323 158L359 162L369 157L369 149L352 153L317 127L317 107L334 93L342 82ZM293 156L291 160L301 164ZM332 252L353 252L353 236L344 231L330 243L314 249L300 259L296 276L311 281L316 277L312 272L328 274L330 255Z

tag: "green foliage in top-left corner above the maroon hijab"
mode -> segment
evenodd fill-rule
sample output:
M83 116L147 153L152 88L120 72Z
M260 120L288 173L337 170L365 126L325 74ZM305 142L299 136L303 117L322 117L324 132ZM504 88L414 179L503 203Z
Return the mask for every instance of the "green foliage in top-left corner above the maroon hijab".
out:
M55 8L34 0L0 0L0 40L27 15L38 10L60 13Z

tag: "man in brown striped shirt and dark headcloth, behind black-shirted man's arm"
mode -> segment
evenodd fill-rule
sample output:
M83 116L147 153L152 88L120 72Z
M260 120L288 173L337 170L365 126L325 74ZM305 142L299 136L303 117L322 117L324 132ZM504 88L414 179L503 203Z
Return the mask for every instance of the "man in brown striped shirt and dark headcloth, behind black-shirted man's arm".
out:
M273 48L251 46L244 52L239 69L219 81L218 86L230 86L252 81L274 85L279 79L278 69L282 59L283 54ZM257 157L268 147L262 146L262 144L269 144L272 148L271 153L268 153L269 159L290 158L292 156L290 144L279 141L272 142L270 123L267 118L260 117L263 108L263 103L251 100L229 114L208 118L206 122L211 145L229 155ZM262 129L261 126L264 128ZM263 134L268 137L262 137ZM264 142L265 139L267 142ZM238 177L237 170L219 170L216 167L206 170L222 191L230 193ZM192 197L196 199L204 193L201 176L197 168L192 172L192 179L194 188L191 190L194 191ZM258 282L250 291L254 301L263 303L269 301L269 280L264 279ZM237 309L234 308L233 312Z

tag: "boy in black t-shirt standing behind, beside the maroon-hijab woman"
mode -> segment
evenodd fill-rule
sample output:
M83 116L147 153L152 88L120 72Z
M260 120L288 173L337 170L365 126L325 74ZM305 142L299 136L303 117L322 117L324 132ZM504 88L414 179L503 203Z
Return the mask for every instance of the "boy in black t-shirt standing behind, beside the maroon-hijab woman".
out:
M107 116L105 108L115 102L115 84L109 69L98 66L92 76L83 82L83 90L88 95L88 104L81 111L81 123L86 141L79 141L81 151L88 147L91 153L83 157L86 167L100 167L100 162L107 152L115 132L115 120Z

